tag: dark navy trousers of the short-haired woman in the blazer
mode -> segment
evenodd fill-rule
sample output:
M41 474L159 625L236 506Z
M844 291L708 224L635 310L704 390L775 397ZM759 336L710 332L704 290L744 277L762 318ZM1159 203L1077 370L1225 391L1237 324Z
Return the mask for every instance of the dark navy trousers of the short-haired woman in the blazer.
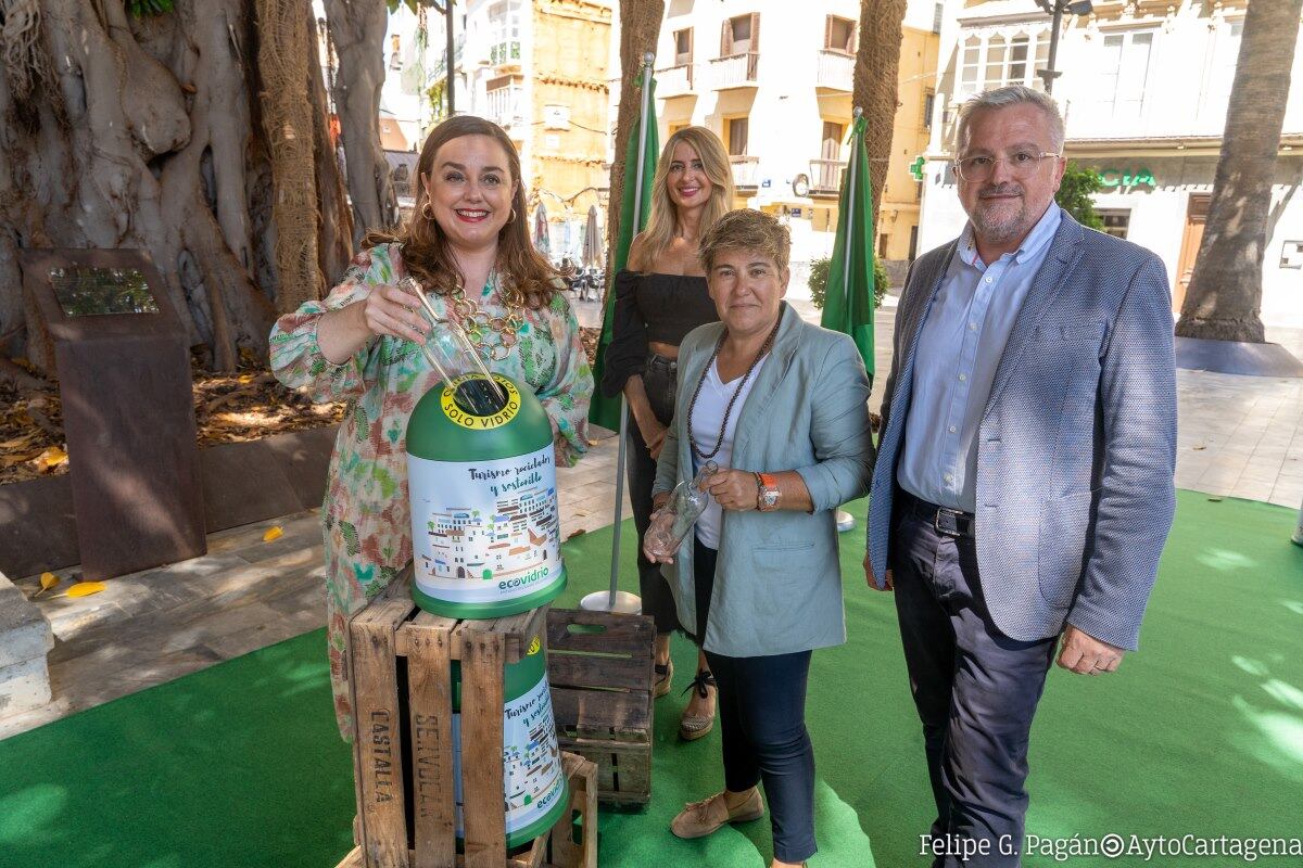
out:
M705 635L714 590L715 549L694 541L697 635ZM810 652L726 657L706 662L719 688L724 786L745 793L765 783L774 856L799 863L814 855L814 746L805 730Z

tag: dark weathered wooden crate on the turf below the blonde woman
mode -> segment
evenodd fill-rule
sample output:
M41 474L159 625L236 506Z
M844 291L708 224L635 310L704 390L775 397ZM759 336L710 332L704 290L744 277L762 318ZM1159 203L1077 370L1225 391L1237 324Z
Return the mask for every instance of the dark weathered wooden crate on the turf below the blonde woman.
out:
M551 609L547 681L563 751L597 764L605 806L652 800L655 623L645 616Z

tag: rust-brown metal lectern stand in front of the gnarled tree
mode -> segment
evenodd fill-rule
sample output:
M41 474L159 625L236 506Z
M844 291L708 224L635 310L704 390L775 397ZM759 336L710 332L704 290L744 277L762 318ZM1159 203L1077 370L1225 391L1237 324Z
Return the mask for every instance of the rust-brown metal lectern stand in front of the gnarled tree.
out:
M53 341L83 576L203 554L189 341L158 271L139 250L25 250L20 259ZM136 269L158 311L69 315L55 268Z

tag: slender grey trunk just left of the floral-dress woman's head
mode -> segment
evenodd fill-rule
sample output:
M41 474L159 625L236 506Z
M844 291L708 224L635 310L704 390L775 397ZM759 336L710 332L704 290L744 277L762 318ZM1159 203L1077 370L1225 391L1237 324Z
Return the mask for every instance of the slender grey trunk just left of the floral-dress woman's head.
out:
M326 0L330 36L339 56L335 107L344 139L353 241L367 229L399 221L390 165L380 147L380 86L384 83L384 0Z

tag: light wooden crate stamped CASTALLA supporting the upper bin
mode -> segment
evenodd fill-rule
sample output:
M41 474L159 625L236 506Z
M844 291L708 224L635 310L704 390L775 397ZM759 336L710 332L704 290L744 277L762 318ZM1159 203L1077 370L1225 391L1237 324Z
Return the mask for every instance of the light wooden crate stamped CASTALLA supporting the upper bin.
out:
M440 618L416 606L409 583L410 570L348 627L360 856L366 868L502 868L503 666L543 635L546 608ZM463 683L464 856L455 841L452 660Z

